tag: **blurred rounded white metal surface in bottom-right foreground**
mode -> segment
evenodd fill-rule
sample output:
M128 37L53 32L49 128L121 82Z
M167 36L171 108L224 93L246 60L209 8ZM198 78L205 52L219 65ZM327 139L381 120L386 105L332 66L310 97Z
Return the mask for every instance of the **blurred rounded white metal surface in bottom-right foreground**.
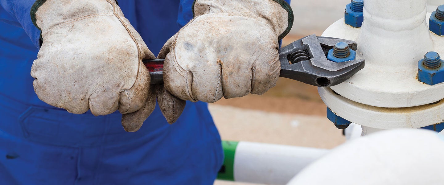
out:
M443 138L423 129L370 134L333 149L288 185L442 185Z

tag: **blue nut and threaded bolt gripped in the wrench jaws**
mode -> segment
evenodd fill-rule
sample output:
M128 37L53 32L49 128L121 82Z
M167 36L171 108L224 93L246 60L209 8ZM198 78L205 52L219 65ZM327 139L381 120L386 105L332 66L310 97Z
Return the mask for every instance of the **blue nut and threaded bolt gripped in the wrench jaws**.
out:
M356 51L351 50L349 44L345 42L336 43L327 54L327 59L336 63L354 60L355 58Z

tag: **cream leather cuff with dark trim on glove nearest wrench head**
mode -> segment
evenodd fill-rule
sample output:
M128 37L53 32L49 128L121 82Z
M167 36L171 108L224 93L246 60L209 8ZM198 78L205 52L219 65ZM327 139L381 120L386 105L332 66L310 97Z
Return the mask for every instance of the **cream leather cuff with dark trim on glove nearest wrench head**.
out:
M284 38L293 27L293 10L285 0L194 0L194 17L208 13L228 13L262 19L270 24L278 39Z

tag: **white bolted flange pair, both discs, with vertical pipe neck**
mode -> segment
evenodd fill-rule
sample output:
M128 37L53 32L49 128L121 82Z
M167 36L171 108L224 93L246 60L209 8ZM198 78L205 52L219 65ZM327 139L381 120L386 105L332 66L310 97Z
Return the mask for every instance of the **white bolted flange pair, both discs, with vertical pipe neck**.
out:
M361 28L341 19L322 34L356 40L357 58L365 59L364 69L331 87L342 97L319 88L325 104L342 118L377 129L443 122L443 101L427 104L444 98L444 83L430 86L416 79L426 52L444 56L444 37L428 30L426 0L366 0L363 13Z

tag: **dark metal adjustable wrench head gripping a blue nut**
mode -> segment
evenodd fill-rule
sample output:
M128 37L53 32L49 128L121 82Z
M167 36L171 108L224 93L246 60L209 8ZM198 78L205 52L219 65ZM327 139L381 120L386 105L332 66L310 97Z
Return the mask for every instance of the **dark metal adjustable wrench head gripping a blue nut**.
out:
M316 37L314 34L282 47L279 50L280 76L317 87L331 87L344 82L364 68L365 60L329 61L327 52L341 41L348 43L351 49L357 49L356 42L352 40ZM298 57L304 52L304 56L308 57Z

